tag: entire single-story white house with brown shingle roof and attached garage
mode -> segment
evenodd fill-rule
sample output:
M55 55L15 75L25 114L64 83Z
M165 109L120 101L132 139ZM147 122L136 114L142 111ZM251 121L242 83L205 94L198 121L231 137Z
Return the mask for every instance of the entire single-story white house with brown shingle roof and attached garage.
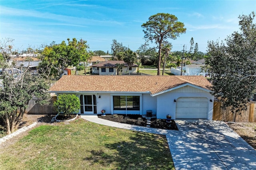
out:
M212 120L214 96L202 76L81 75L63 76L49 93L74 94L81 115L138 114L157 119Z

